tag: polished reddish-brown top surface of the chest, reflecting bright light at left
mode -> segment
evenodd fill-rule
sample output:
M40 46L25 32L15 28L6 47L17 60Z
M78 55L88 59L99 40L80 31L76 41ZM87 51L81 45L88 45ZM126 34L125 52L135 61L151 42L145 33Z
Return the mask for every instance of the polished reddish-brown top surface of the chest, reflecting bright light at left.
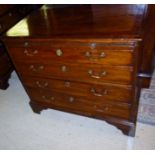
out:
M44 5L5 35L9 38L140 39L146 7L147 5Z

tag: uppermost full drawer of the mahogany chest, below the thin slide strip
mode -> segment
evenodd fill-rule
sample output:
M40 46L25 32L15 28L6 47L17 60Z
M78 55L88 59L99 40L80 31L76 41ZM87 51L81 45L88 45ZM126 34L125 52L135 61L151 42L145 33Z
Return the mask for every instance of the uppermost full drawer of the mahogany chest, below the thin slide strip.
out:
M97 63L108 65L133 65L133 49L113 49L98 46L91 49L89 46L52 46L52 47L25 47L10 48L15 60L24 62L75 62L75 63ZM121 60L121 61L120 61Z

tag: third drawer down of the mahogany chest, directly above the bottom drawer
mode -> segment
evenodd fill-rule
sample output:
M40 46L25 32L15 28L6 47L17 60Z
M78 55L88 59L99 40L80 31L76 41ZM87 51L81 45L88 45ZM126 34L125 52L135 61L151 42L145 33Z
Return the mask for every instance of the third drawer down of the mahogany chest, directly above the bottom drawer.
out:
M77 95L97 102L112 100L131 103L132 99L132 88L128 86L86 84L38 77L22 77L22 80L27 87Z

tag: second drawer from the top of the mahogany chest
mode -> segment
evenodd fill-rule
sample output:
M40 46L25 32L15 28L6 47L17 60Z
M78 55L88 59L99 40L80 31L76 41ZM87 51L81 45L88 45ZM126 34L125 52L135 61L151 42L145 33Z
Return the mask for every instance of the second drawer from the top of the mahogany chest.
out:
M71 64L44 62L23 63L16 62L16 68L21 75L38 76L54 79L65 79L79 82L102 84L104 82L114 84L133 83L133 68L125 66L103 66L97 64Z

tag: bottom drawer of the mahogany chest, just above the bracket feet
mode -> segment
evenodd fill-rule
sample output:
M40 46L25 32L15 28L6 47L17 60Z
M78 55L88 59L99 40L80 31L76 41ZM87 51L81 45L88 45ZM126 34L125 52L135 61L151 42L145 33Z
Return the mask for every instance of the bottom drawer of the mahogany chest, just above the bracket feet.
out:
M91 115L119 117L122 119L130 119L130 106L127 104L116 104L115 102L102 102L100 104L87 100L76 95L67 95L54 91L38 90L35 88L27 88L32 101L40 102L49 108L64 111L71 110L73 112L86 112Z

